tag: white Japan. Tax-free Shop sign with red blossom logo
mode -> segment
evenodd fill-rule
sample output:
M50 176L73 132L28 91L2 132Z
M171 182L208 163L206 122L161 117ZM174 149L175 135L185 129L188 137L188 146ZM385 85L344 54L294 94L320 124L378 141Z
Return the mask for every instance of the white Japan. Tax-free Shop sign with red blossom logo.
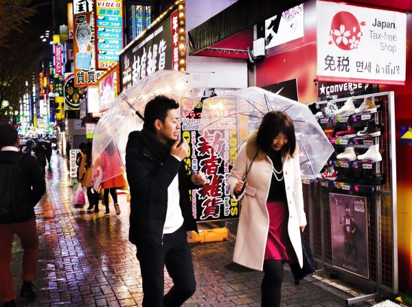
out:
M404 84L406 39L405 13L317 1L319 80Z

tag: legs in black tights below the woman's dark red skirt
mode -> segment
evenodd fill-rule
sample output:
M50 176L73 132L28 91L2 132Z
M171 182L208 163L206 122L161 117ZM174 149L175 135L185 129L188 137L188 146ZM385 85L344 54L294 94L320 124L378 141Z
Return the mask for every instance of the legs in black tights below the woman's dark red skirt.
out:
M281 287L284 278L284 262L268 259L263 262L262 307L280 306Z

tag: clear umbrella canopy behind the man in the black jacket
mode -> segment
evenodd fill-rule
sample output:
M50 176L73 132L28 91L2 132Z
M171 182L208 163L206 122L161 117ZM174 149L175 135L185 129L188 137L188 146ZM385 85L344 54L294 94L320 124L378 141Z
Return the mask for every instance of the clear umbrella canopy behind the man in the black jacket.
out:
M128 135L143 127L146 103L157 95L168 95L179 102L181 97L203 95L208 75L157 71L124 90L98 121L93 137L92 182L101 182L121 175L125 167Z

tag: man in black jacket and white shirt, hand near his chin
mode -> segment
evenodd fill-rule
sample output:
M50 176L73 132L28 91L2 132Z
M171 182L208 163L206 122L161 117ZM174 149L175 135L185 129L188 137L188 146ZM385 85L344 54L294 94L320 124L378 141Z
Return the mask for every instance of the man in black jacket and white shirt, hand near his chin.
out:
M130 186L130 242L137 246L143 307L181 306L196 290L189 230L197 230L189 189L206 184L203 173L187 175L180 143L179 104L157 96L146 105L144 127L131 132L126 147ZM164 266L174 286L164 295Z

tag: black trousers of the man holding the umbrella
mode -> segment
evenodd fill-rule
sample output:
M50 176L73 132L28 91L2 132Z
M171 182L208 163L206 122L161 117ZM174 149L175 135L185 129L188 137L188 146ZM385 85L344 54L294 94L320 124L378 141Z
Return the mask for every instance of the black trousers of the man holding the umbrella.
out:
M143 307L181 306L196 290L192 254L183 226L163 235L163 244L143 239L137 245L143 283ZM164 295L164 267L174 285Z

